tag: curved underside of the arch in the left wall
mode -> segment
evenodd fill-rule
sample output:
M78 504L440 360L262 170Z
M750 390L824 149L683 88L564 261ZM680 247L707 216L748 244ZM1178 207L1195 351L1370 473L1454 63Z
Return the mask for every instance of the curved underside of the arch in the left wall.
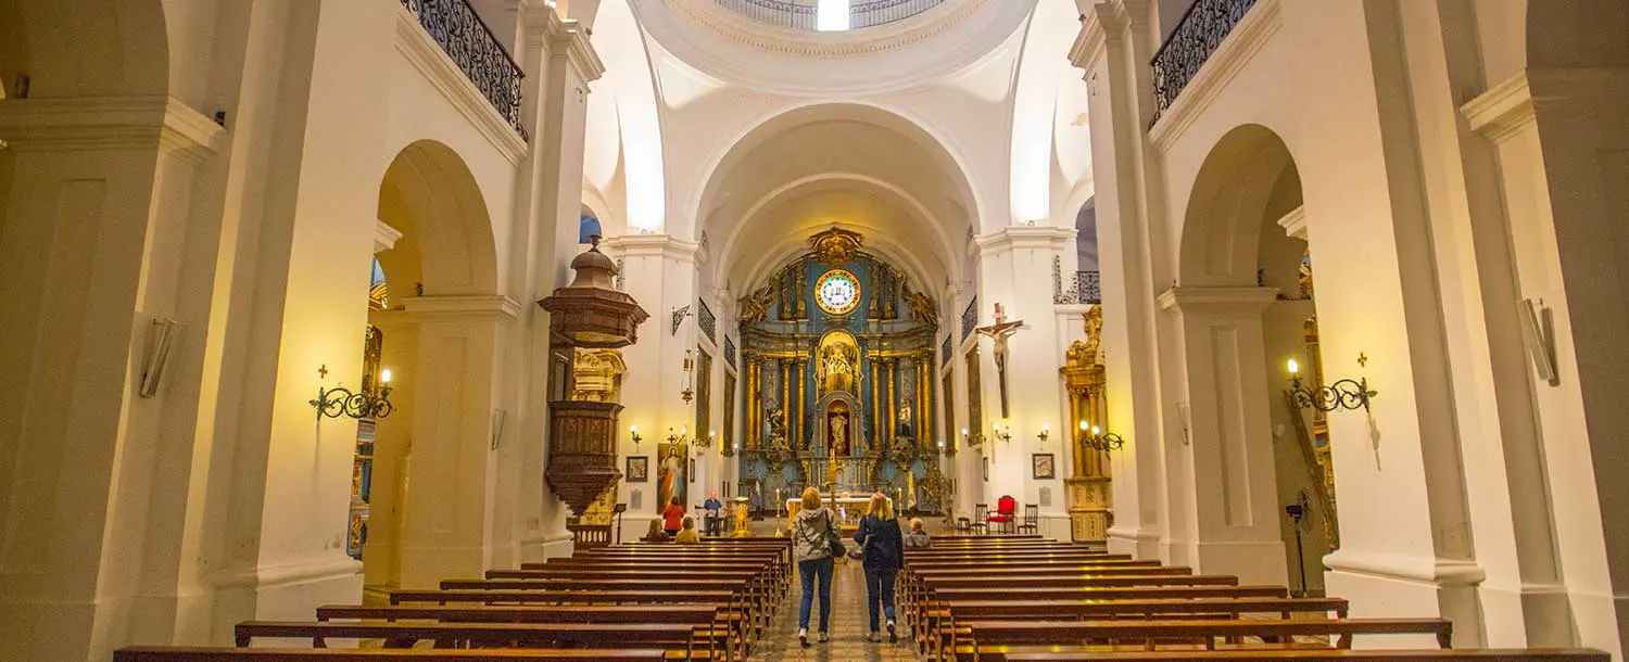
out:
M481 187L453 148L419 140L380 182L380 221L402 233L380 262L424 294L495 294L497 242Z

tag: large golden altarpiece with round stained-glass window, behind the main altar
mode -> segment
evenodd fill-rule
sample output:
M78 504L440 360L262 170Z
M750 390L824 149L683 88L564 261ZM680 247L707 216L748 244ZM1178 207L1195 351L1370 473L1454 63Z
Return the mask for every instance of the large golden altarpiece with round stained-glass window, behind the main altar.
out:
M858 233L808 246L740 299L741 486L757 511L813 485L937 512L937 307Z

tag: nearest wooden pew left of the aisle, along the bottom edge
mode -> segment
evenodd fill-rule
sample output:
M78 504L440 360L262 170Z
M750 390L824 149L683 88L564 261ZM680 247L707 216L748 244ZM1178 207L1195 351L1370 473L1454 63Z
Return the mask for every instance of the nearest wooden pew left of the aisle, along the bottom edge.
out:
M205 646L130 646L114 662L634 662L676 660L666 649L228 649Z

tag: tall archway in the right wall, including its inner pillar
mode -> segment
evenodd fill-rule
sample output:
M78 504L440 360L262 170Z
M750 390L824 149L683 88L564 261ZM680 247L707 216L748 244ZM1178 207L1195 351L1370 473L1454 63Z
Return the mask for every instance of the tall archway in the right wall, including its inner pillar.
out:
M1194 504L1186 553L1204 571L1276 582L1289 574L1316 594L1321 558L1339 540L1329 434L1285 385L1287 359L1308 366L1305 384L1321 385L1311 263L1289 148L1266 127L1233 128L1194 181L1179 286L1161 301L1179 320L1179 408L1191 439L1192 480L1173 493Z

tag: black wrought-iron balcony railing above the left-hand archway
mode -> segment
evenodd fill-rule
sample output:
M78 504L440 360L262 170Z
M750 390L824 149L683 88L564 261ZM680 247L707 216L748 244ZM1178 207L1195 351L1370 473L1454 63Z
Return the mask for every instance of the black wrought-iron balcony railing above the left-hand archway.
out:
M441 50L464 72L464 76L492 102L498 115L521 140L531 140L520 120L521 73L503 44L492 36L468 0L401 0L419 16L425 33L441 44Z

